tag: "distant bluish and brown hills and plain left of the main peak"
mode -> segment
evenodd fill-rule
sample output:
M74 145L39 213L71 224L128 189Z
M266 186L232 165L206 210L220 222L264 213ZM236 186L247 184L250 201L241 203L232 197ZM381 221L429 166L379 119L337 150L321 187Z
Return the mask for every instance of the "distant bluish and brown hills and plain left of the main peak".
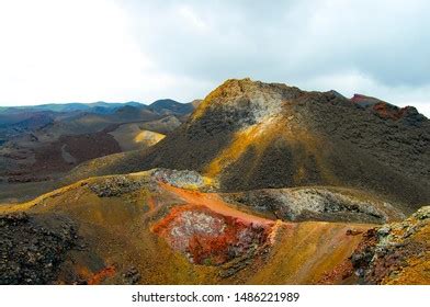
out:
M0 110L0 200L27 198L87 160L152 146L191 113L191 104L66 103ZM15 184L12 190L9 184ZM32 186L31 191L26 185ZM22 192L20 192L22 191Z

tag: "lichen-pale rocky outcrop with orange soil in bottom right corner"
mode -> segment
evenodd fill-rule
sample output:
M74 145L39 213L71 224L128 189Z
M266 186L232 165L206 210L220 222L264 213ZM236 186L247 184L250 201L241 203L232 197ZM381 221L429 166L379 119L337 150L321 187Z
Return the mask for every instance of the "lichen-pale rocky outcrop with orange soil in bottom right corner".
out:
M351 255L355 274L365 284L428 284L429 239L429 206L401 223L371 229Z

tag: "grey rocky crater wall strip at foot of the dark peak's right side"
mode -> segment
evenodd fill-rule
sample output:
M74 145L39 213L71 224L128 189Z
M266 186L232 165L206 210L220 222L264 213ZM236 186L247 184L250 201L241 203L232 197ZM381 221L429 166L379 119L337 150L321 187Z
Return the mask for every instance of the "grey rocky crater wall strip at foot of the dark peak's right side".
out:
M329 187L254 190L223 194L231 203L291 221L326 220L384 224L404 215L393 205L354 191Z

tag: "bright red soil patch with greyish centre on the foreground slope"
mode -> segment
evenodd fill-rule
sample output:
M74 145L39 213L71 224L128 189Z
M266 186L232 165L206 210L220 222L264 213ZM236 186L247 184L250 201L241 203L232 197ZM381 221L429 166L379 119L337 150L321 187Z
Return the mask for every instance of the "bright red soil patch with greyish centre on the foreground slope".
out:
M173 207L152 231L191 262L218 265L264 246L271 228L215 213L203 205L183 205Z

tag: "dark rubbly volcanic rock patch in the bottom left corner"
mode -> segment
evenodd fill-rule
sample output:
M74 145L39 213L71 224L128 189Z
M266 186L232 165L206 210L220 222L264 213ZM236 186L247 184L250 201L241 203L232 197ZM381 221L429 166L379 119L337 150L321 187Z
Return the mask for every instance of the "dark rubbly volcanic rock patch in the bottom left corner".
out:
M0 284L56 282L65 254L77 240L76 226L61 216L25 213L0 216Z

